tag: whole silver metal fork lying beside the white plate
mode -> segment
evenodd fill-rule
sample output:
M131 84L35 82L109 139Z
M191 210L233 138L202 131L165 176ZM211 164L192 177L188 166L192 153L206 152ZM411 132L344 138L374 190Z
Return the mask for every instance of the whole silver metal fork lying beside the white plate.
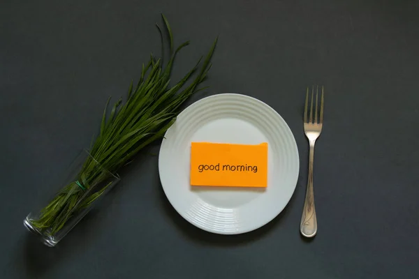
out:
M309 112L309 121L307 121L307 110L309 106L309 87L307 87L306 102L304 106L304 133L309 139L310 157L309 157L309 179L307 182L307 192L304 200L304 209L302 211L302 218L300 224L300 232L303 236L313 237L317 233L317 218L316 209L314 208L314 190L313 190L313 165L314 165L314 144L318 136L320 136L321 128L323 127L323 98L324 88L321 86L321 105L320 118L318 116L318 86L316 88L316 112L314 112L313 119L313 100L314 100L314 86L311 87L311 105Z

